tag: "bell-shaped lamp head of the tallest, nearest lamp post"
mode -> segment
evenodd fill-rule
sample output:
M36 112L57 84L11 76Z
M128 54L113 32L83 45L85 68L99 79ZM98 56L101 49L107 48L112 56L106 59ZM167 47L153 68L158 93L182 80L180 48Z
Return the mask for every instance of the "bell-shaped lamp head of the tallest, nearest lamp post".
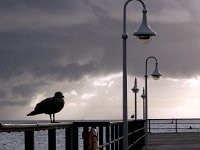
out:
M156 36L156 32L153 31L147 23L147 10L143 9L143 19L142 24L140 25L139 29L134 32L134 36L138 38L138 40L144 44L151 41L153 36Z

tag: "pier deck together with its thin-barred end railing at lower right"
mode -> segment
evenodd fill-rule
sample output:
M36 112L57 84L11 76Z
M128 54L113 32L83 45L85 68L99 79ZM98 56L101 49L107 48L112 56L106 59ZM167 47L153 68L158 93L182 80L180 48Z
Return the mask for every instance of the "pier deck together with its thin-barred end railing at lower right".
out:
M150 119L142 150L200 149L200 119Z

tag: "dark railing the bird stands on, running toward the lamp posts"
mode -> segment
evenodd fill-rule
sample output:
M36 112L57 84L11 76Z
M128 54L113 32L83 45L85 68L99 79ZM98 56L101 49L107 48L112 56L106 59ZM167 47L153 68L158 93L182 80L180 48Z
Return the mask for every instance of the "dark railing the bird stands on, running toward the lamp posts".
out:
M144 120L131 120L129 127L129 150L139 150L144 145ZM71 123L30 123L30 124L0 124L1 132L24 132L25 150L34 150L34 132L48 131L48 150L56 150L56 130L65 129L65 149L78 150L79 140L82 138L83 149L89 147L89 129L96 127L98 130L99 150L122 150L123 134L122 121L77 121ZM80 138L80 129L82 137Z

